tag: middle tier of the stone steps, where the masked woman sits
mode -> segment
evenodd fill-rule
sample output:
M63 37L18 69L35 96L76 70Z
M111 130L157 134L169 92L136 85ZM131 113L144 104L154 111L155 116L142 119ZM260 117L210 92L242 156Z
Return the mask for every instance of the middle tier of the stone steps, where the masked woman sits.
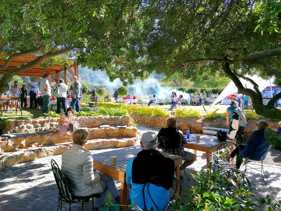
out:
M117 138L117 137L136 137L137 129L135 127L98 127L85 128L88 131L88 140L100 138ZM11 135L11 134L8 134ZM23 133L16 134L17 137L1 137L0 138L0 153L12 152L28 147L37 147L39 145L59 144L71 141L71 135L64 135L62 138L58 137L57 131L47 131L46 134L38 133ZM20 135L20 136L18 136Z

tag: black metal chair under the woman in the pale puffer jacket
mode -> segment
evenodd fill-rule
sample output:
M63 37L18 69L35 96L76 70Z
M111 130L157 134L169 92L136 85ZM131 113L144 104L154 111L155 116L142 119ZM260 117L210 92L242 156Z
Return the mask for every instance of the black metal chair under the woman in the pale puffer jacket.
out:
M71 203L82 202L82 211L83 211L83 202L89 201L92 198L92 209L94 210L94 198L100 198L100 194L93 194L89 196L74 196L71 194L71 188L68 182L67 177L59 169L58 164L53 159L51 160L52 171L56 180L56 185L59 189L59 207L62 209L62 202L69 203L69 211L71 211ZM59 209L58 209L59 210Z

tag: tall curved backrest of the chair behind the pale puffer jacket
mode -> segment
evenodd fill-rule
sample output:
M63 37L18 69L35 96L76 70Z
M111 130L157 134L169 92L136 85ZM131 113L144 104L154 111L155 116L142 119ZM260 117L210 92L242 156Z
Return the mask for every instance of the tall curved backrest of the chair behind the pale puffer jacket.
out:
M56 180L56 185L58 186L58 189L59 189L60 197L64 201L70 202L72 200L71 189L70 189L66 176L64 175L64 173L61 172L58 164L53 159L51 160L51 166L52 166L52 171L54 173L54 177Z

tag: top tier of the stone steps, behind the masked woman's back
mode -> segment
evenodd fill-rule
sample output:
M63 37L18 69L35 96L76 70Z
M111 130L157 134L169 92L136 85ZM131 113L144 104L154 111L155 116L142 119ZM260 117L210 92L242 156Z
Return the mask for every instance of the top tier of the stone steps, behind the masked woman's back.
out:
M132 126L130 116L88 116L74 117L73 120L78 122L78 127L99 127L100 125L127 125ZM15 120L5 122L2 125L2 134L22 133L22 132L37 132L44 130L59 129L59 118L37 118L30 120Z

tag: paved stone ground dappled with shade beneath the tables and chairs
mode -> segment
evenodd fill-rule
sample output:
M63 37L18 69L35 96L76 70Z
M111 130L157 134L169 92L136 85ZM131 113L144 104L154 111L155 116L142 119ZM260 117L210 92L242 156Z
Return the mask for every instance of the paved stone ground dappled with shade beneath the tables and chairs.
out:
M152 130L157 132L159 128L145 127L139 125L138 136L143 132ZM110 151L112 149L92 150L93 154ZM192 152L193 150L191 150ZM198 152L198 159L189 168L186 168L186 175L197 173L206 168L206 157ZM36 159L35 161L17 164L0 172L0 211L33 211L33 210L57 210L58 190L52 173L51 159L61 165L61 155ZM260 164L252 164L260 165ZM264 185L261 174L256 170L247 171L249 180L256 187L254 191L263 197L269 194L271 198L281 200L281 168L280 166L265 165L265 173L268 175L266 186ZM184 172L181 171L184 176ZM181 181L182 193L184 195L191 186L196 185L191 177L190 180ZM117 189L120 190L120 183L116 181ZM91 201L84 204L85 210L91 210ZM72 204L71 210L79 210L81 203ZM63 210L69 210L69 205L63 203Z

